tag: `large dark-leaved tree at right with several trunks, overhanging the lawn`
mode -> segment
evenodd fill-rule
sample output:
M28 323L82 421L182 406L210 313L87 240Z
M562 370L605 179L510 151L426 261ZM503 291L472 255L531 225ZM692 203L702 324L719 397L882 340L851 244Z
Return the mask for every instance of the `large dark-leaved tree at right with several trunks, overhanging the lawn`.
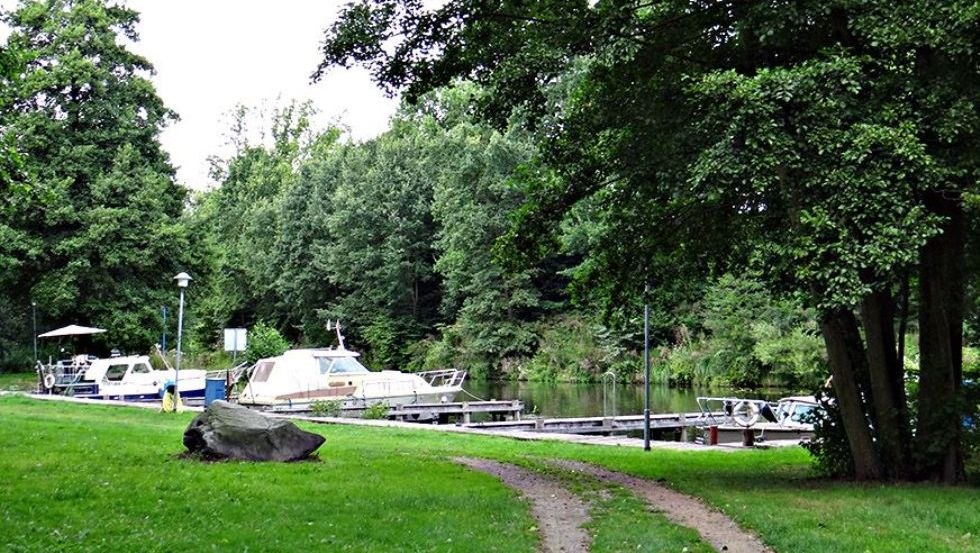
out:
M807 294L854 476L955 482L980 117L962 68L978 41L958 1L362 0L327 32L321 68L366 65L410 99L471 78L490 120L533 129L549 169L527 175L513 257L552 249L563 218L602 198L616 218L586 275L613 290L749 267ZM911 286L914 414L895 309Z

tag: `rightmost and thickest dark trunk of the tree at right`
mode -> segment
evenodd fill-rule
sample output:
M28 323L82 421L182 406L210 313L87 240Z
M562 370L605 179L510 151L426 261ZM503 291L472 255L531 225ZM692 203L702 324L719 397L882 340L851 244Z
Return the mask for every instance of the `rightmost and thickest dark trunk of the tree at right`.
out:
M926 206L946 218L926 243L919 273L919 412L916 451L921 476L964 478L961 443L964 215L958 194L936 192Z

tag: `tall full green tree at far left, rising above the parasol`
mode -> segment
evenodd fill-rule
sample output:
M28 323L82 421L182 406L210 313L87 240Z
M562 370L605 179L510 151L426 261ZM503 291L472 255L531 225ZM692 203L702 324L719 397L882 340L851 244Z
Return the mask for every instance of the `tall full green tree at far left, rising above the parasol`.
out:
M24 2L8 14L7 51L20 65L0 105L17 137L27 194L0 217L0 279L19 305L48 320L110 328L107 339L148 347L156 313L182 267L178 217L186 192L160 147L175 116L157 97L150 63L126 49L136 12L98 0Z

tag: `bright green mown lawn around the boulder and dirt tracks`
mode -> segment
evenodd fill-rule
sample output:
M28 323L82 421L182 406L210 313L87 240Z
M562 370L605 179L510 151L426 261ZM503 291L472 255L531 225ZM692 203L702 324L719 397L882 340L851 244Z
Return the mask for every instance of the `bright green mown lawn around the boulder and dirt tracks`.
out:
M319 462L181 460L192 414L0 398L0 549L533 551L527 506L466 455L588 461L704 498L777 551L978 551L980 489L817 480L798 449L632 448L354 426ZM703 551L626 494L598 493L593 551ZM638 547L639 546L639 547Z

